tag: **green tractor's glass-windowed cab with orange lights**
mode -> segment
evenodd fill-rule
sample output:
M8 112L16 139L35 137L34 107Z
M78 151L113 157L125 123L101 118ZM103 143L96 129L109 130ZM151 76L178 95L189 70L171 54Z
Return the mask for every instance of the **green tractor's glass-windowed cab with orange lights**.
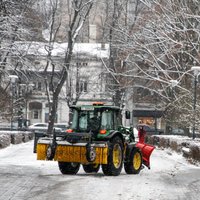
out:
M90 132L97 139L108 136L110 131L122 125L121 112L116 106L93 104L92 106L74 106L71 109L73 120L67 132Z

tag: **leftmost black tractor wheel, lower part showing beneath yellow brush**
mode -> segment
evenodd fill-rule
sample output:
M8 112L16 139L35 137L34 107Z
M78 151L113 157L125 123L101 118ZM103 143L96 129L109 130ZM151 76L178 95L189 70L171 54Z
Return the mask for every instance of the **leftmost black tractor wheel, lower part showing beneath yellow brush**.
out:
M77 174L80 163L58 162L58 166L62 174Z

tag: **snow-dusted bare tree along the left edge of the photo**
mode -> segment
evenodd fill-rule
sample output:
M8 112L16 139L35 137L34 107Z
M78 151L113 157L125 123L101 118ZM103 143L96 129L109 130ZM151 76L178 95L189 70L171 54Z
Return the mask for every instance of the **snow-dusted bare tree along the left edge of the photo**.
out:
M23 41L31 33L26 26L27 13L32 10L32 0L0 1L0 87L1 108L10 116L10 82L8 75L17 73L24 61L16 48L16 41ZM16 51L17 54L16 54ZM17 62L12 62L15 59ZM3 107L4 106L4 107ZM7 109L7 110L6 110Z

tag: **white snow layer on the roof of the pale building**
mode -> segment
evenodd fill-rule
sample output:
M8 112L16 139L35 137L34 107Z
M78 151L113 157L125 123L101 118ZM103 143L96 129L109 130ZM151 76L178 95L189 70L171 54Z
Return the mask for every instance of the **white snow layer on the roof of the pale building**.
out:
M53 56L64 56L67 50L68 43L54 43L49 46L44 42L17 42L15 50L23 51L24 54L46 56L48 50L52 50ZM103 47L103 48L102 48ZM75 43L74 54L88 54L98 58L109 57L109 44L102 45L101 43Z

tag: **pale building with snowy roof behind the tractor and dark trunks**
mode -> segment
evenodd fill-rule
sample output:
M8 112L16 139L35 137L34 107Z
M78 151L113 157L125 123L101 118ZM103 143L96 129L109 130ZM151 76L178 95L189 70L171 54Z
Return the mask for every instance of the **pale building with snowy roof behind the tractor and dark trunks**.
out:
M47 71L44 71L47 64L45 52L47 44L37 42L31 44L18 43L18 45L24 48L27 54L26 69L14 72L18 76L15 83L15 90L17 91L15 101L21 101L22 117L29 120L30 124L47 123L49 105L54 89L50 84L51 75L54 73L53 84L56 86L64 67L67 44L56 43L53 46L51 60L53 65L49 65ZM73 53L68 77L59 95L56 123L69 123L69 105L71 104L88 104L94 101L112 103L109 93L106 92L106 72L102 62L102 60L107 62L109 46L103 45L102 47L101 44L96 43L77 43L74 46ZM15 60L12 62L15 62ZM53 71L52 66L54 66ZM49 97L47 91L49 91ZM16 116L16 118L19 118L19 116Z

